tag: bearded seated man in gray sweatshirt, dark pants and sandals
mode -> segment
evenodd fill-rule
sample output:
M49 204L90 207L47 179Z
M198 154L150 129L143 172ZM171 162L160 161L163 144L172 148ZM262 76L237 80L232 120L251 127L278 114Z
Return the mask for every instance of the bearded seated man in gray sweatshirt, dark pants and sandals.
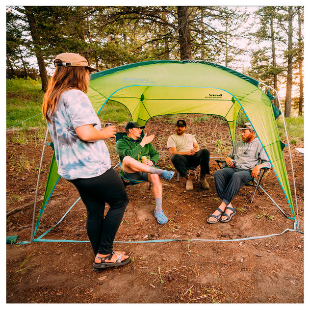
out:
M225 159L227 167L214 174L215 188L222 202L206 220L210 224L229 222L236 215L231 200L239 193L252 177L256 177L261 168L271 167L266 152L251 123L245 123L241 130L242 141L237 142Z

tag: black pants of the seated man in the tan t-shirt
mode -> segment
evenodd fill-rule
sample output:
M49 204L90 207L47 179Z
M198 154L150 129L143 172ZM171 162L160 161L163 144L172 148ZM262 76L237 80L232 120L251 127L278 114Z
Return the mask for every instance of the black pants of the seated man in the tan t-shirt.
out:
M198 167L200 165L200 175L210 173L209 161L210 152L208 149L203 148L199 150L195 155L180 155L174 154L171 158L172 164L180 174L180 176L187 176L188 167Z

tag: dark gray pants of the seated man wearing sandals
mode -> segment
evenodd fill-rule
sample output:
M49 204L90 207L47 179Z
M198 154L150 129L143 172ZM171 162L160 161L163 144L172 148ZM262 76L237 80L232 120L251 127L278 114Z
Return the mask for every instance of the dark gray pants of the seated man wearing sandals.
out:
M227 205L251 178L251 170L242 170L239 168L217 170L214 173L216 192Z

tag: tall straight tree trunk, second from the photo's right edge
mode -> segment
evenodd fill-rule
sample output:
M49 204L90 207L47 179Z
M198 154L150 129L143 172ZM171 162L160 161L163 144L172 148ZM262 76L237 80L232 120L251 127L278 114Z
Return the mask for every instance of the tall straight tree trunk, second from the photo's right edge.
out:
M287 92L285 98L284 116L291 115L292 105L292 83L293 83L293 8L289 7L289 38L288 38L288 76L287 76Z

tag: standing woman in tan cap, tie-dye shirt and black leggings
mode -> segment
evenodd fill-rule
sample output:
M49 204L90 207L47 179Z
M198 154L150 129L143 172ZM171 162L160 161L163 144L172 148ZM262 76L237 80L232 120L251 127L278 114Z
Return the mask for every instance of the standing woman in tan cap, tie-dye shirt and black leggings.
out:
M97 69L73 53L58 55L54 64L42 110L55 146L58 173L77 188L86 205L87 234L96 255L94 270L125 265L130 258L112 247L128 197L102 140L115 137L116 128L101 128L85 94L89 72ZM104 217L106 202L110 209Z

